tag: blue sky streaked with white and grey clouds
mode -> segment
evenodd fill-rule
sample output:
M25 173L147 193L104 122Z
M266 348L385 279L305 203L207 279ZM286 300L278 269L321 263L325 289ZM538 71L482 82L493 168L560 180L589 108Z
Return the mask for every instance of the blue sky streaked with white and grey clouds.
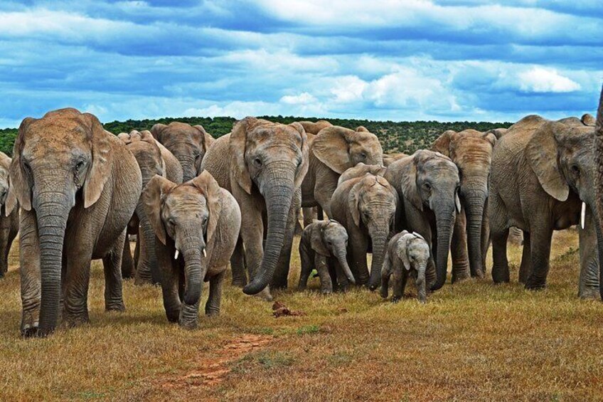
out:
M559 118L594 112L602 83L601 0L0 2L0 127L66 106L105 122Z

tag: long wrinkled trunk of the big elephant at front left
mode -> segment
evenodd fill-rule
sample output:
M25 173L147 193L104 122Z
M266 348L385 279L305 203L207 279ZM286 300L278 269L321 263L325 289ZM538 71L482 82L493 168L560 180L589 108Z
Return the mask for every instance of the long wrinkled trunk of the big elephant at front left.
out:
M42 289L38 335L44 337L54 331L59 317L63 240L70 203L68 196L58 191L38 194L35 200Z

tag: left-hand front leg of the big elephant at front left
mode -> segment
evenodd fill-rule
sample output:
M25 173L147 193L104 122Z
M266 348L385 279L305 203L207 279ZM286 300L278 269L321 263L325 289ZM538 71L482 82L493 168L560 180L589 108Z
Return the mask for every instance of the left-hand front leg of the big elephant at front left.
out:
M19 228L19 260L21 265L21 335L31 337L38 332L41 302L40 241L38 223L33 211L21 210Z

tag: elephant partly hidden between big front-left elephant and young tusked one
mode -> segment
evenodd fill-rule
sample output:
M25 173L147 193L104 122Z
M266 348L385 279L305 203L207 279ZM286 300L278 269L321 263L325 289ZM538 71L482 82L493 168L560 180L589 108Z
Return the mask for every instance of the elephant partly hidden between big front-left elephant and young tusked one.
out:
M129 134L122 132L117 137L134 154L142 173L143 188L156 174L164 176L176 184L182 183L183 171L178 159L166 147L154 139L151 132L148 130L143 130L142 132L132 130ZM133 277L135 273L136 279L134 283L137 285L159 283L161 277L159 276L159 268L157 268L157 258L155 255L155 235L151 223L144 212L142 197L136 207L134 216L132 216L129 222L128 234L137 235L139 258L137 258L137 268L134 270L129 239L126 239L124 257L122 258L122 277Z

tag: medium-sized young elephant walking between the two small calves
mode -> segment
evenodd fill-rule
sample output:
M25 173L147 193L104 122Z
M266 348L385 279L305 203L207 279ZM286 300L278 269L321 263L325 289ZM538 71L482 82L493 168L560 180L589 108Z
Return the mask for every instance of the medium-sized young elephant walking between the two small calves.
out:
M350 237L348 265L359 285L370 290L380 284L385 247L390 238L397 208L397 194L382 176L365 174L344 181L333 193L331 212ZM373 253L370 279L366 253Z

